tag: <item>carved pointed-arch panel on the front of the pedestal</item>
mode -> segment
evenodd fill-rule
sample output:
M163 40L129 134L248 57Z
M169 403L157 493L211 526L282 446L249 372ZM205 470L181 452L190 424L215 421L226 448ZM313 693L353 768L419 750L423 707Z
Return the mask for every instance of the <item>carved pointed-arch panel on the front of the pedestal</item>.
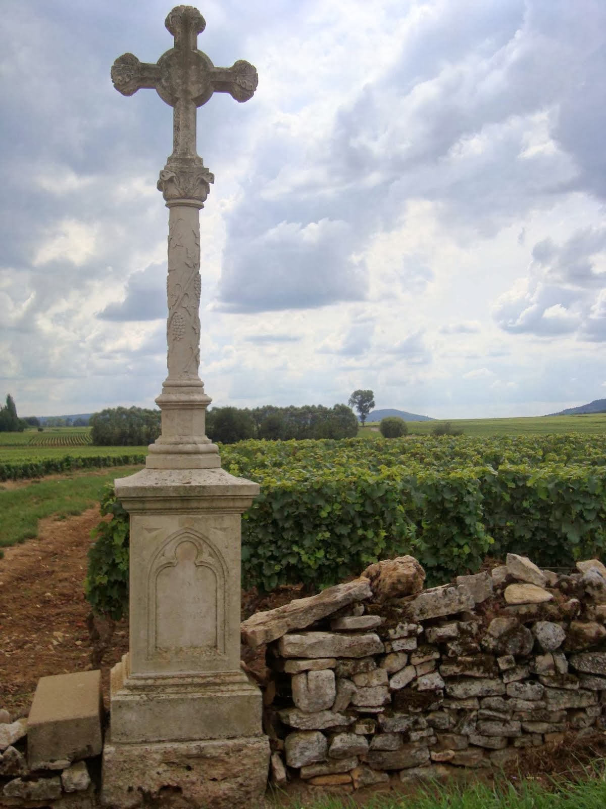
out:
M225 562L191 528L169 536L149 570L150 658L196 660L225 654Z

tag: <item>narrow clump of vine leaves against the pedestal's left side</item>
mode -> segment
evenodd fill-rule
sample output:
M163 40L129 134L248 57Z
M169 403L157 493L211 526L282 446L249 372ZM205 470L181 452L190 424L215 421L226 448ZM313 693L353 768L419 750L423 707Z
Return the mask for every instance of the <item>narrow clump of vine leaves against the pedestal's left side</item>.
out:
M120 621L128 612L128 514L112 484L103 492L101 514L112 519L102 520L90 532L95 543L88 552L84 593L93 612Z

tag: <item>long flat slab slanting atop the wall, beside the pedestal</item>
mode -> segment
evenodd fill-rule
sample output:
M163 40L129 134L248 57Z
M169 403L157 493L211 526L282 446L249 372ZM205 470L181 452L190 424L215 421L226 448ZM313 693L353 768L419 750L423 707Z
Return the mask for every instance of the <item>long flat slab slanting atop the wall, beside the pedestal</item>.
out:
M255 615L242 621L240 631L242 642L253 649L263 643L269 643L282 637L292 629L305 629L306 626L331 615L338 609L372 597L372 590L368 578L356 578L353 582L337 584L328 587L318 595L311 595L306 599L296 599L283 607L255 612ZM314 657L331 657L332 655L318 655Z

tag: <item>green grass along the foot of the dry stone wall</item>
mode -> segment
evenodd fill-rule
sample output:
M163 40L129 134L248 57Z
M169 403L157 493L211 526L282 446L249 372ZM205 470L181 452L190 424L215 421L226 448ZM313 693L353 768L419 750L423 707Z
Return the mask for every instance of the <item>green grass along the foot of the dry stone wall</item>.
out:
M475 783L467 786L436 784L423 786L413 795L373 796L365 803L330 796L296 801L289 809L604 809L606 781L597 768L579 781L564 781L550 789L537 781L520 778L516 783L496 785ZM280 803L284 807L284 803Z

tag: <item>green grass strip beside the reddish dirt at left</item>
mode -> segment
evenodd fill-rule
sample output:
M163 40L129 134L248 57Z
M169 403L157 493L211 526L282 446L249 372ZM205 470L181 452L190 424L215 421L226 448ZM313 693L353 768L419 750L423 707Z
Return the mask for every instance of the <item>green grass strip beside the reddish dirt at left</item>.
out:
M112 467L100 475L86 472L55 481L34 481L17 488L0 484L0 548L37 536L38 520L44 517L65 519L82 514L99 502L106 483L140 468Z

